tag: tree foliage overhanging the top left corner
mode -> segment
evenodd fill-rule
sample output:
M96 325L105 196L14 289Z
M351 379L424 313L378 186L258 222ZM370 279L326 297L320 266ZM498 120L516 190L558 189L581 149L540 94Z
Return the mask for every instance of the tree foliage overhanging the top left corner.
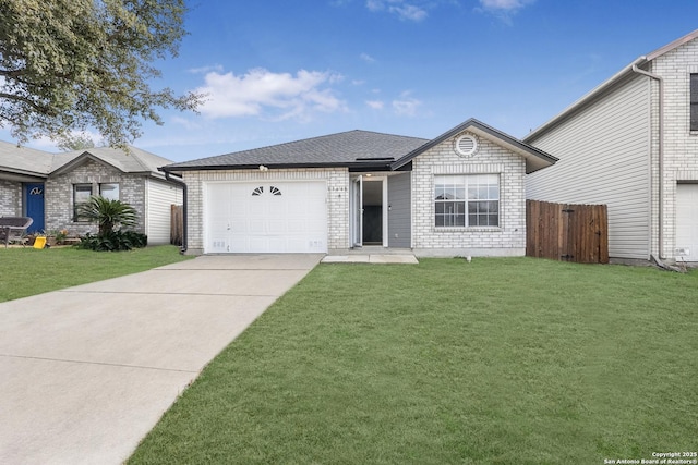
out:
M0 127L21 143L94 127L109 145L141 135L156 110L201 96L151 88L176 57L184 0L0 0Z

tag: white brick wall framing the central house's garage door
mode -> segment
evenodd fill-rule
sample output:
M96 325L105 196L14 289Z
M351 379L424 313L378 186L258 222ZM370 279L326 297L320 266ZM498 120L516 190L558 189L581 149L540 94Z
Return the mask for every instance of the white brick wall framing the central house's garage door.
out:
M302 170L185 171L188 254L204 250L204 183L208 181L320 181L327 183L328 248L349 247L349 171L346 168Z

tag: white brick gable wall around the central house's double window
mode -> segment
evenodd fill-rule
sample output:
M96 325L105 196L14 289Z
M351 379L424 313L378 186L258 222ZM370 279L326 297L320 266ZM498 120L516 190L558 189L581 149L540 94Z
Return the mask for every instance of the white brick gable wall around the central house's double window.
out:
M458 136L413 160L412 243L416 253L422 256L525 255L525 159L483 137L480 137L480 150L476 157L460 158L453 149ZM498 174L500 227L435 228L435 174Z

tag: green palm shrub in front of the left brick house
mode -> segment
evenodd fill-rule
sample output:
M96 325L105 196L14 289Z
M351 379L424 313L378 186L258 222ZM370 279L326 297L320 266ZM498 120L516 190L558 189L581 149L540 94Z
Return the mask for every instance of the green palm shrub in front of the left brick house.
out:
M81 237L80 248L130 250L147 245L145 234L122 230L136 224L137 213L132 206L121 200L93 195L88 201L77 208L77 216L99 225L97 235L86 234Z

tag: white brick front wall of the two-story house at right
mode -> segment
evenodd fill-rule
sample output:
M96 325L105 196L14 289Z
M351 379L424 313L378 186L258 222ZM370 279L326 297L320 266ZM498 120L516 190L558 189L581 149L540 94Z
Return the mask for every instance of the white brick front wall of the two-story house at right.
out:
M698 181L698 132L690 131L690 85L689 76L698 73L698 40L685 44L651 63L649 70L664 79L664 211L663 245L664 256L674 257L676 247L676 183ZM658 108L659 85L652 82L654 109ZM657 115L658 112L654 112ZM658 140L659 120L652 121L653 157L653 201L652 217L659 217L659 166ZM659 224L659 221L655 222ZM653 249L658 254L658 228L653 229Z

